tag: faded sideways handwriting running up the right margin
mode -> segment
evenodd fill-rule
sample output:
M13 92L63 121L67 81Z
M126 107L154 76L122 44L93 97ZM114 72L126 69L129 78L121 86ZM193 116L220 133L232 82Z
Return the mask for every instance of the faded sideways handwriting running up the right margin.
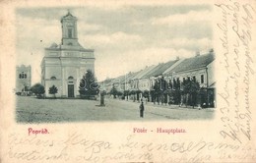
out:
M240 4L232 0L215 6L222 12L222 19L217 24L222 43L220 65L224 68L224 85L218 90L224 102L220 134L224 138L244 143L251 140L249 92L250 79L255 72L252 69L254 61L250 46L255 9L251 4Z

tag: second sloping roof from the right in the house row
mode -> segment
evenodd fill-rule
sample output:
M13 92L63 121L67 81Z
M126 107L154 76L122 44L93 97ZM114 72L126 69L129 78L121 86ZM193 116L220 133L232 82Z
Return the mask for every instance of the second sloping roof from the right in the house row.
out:
M155 69L146 74L143 78L151 78L161 76L163 72L165 72L169 67L175 64L178 60L169 61L166 63L159 64Z

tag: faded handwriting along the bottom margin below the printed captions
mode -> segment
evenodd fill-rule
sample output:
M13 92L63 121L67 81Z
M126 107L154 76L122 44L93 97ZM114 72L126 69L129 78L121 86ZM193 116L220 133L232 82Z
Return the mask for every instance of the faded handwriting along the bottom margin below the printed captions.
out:
M9 136L10 159L21 162L207 162L227 159L255 160L256 150L250 144L194 141L149 142L138 135L124 136L120 143L96 140L73 133L63 139L47 139L45 136ZM216 155L218 153L218 155Z

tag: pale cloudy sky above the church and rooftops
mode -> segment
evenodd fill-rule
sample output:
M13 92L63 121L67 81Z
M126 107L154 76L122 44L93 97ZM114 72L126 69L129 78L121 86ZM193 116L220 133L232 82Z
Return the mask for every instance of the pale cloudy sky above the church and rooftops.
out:
M17 65L32 66L32 84L40 82L44 48L61 42L68 10L78 19L80 44L95 49L97 81L213 48L209 5L18 8Z

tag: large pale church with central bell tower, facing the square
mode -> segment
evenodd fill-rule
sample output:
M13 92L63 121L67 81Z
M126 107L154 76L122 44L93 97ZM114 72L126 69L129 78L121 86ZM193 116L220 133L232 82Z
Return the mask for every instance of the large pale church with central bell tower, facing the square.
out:
M79 84L87 70L95 74L95 54L78 42L77 18L70 12L61 18L62 39L45 48L41 61L41 83L45 96L50 96L49 87L58 88L56 97L79 96Z

